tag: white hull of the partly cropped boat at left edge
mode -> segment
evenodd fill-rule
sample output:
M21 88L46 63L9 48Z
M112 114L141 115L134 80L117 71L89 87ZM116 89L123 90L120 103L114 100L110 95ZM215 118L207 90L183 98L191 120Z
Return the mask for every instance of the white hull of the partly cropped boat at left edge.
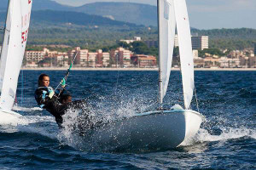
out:
M21 115L15 111L4 111L0 109L0 125L17 125Z

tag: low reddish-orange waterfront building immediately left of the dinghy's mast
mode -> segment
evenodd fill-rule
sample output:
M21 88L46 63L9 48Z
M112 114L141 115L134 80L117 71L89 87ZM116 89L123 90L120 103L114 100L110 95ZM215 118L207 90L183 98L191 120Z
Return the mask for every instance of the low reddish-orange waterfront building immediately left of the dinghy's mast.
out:
M135 54L131 56L131 63L139 68L154 68L157 66L156 57L144 54Z

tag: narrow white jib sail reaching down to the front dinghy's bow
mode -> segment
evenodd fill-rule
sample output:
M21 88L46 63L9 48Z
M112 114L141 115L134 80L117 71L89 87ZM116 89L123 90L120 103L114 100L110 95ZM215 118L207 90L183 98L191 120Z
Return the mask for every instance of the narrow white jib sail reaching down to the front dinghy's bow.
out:
M194 61L186 1L174 0L174 8L177 21L177 36L183 77L184 106L185 109L189 109L194 91Z

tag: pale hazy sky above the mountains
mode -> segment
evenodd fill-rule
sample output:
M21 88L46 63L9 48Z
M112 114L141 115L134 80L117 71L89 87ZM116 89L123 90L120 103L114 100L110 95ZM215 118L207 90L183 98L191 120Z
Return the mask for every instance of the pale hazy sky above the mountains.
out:
M80 6L95 2L126 2L156 5L156 0L55 0ZM256 0L187 0L190 25L199 29L256 29Z

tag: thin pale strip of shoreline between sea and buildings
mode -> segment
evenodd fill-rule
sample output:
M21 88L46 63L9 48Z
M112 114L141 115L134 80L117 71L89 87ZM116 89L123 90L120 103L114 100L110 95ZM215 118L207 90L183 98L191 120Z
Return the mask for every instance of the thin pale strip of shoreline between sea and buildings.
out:
M22 67L23 71L67 71L68 67ZM73 67L73 71L158 71L158 68L81 68ZM172 68L172 71L179 71ZM256 68L195 68L195 71L256 71Z

